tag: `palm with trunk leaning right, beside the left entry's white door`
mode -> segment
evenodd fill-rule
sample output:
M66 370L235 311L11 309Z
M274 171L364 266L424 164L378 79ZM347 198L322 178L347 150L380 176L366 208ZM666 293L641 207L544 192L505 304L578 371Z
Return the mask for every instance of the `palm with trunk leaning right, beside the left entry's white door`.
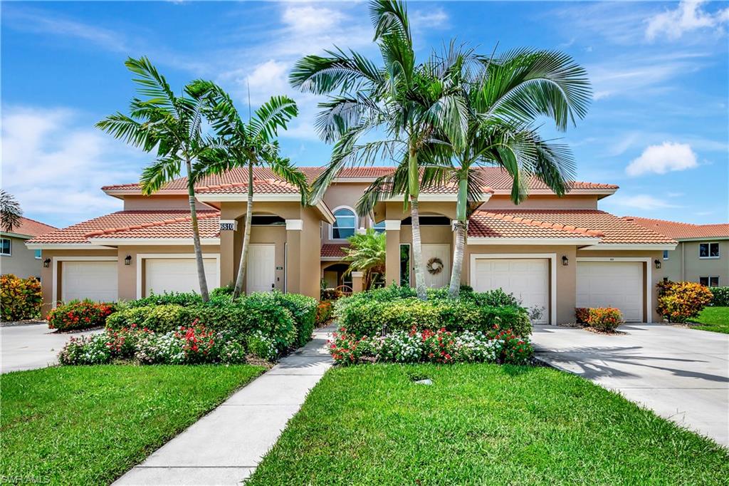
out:
M246 276L249 242L251 239L251 220L253 217L253 169L268 166L286 182L296 185L301 193L302 204L308 196L306 177L302 171L292 166L288 158L281 158L278 141L274 138L278 128L286 129L286 124L298 114L296 102L287 96L273 96L243 122L241 115L230 96L212 82L198 80L192 83L192 91L206 99L204 109L208 121L216 132L217 150L208 152L203 159L203 173L211 174L246 167L248 169L248 198L246 204L246 228L243 231L243 247L238 274L235 277L233 298L243 291Z

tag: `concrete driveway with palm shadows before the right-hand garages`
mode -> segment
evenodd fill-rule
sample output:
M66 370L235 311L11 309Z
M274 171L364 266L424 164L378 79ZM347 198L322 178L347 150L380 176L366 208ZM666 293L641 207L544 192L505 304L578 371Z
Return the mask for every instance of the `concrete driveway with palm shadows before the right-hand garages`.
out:
M534 326L537 357L729 446L729 335L660 324L623 335Z

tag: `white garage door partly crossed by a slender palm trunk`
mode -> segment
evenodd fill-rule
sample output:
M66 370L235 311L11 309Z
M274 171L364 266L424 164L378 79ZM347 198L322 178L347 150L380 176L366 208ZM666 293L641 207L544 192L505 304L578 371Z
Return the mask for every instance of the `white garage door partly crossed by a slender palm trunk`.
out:
M205 258L208 289L218 286L218 266L215 258ZM195 258L148 258L144 260L144 295L165 292L200 293L198 266Z

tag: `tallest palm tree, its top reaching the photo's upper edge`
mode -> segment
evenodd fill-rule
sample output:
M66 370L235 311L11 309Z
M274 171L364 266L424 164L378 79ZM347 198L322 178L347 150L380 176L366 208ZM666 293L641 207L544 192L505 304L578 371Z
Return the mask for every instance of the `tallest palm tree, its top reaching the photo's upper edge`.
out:
M330 94L329 101L319 105L323 110L316 127L325 142L335 145L329 166L313 183L314 200L323 197L347 164L375 163L387 157L407 167L404 197L413 220L416 290L418 297L425 299L418 156L435 133L445 134L456 145L464 140L468 104L460 87L448 81L447 72L432 72L428 66L416 64L402 2L373 0L370 17L382 66L358 53L336 49L327 51L327 57L308 55L300 59L289 80L303 91ZM386 134L386 138L359 143L373 131Z

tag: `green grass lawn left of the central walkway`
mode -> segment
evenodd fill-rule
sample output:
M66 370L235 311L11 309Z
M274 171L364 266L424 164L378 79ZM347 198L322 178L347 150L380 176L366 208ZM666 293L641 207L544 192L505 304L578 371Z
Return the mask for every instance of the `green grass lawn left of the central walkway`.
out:
M0 476L108 484L262 371L109 365L3 374Z

